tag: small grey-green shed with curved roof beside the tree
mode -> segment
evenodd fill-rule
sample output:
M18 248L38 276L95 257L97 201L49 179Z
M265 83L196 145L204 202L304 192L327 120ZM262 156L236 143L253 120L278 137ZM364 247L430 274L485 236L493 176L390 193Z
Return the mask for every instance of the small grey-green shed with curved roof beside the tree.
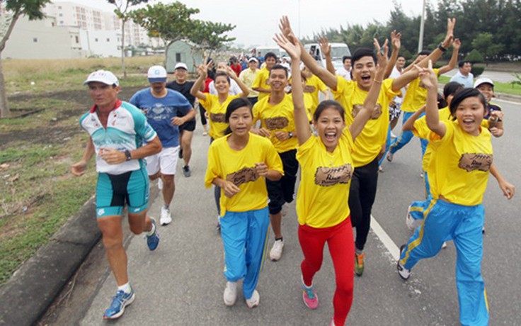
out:
M200 48L188 40L176 40L166 47L166 71L169 73L173 72L173 67L178 62L184 62L188 66L188 72L195 73L202 60Z

